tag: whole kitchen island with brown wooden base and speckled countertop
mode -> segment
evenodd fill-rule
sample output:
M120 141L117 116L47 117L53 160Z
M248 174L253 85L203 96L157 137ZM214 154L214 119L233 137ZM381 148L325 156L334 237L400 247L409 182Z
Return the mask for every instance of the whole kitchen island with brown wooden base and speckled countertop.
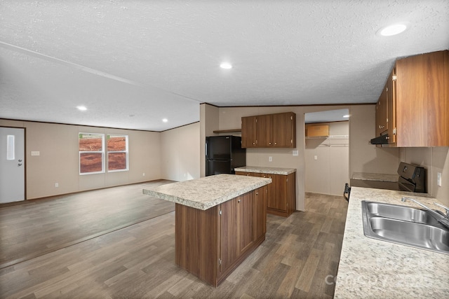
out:
M175 202L175 263L217 286L264 241L271 182L217 174L143 193Z

